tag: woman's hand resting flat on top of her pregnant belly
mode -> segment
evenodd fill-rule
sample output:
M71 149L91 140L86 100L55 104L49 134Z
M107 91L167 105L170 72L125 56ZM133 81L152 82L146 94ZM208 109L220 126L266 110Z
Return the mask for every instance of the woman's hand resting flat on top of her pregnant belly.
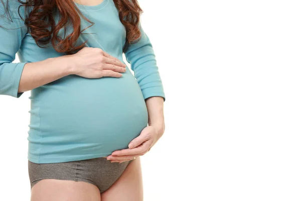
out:
M121 77L126 65L100 48L84 47L70 55L74 62L73 73L86 78Z

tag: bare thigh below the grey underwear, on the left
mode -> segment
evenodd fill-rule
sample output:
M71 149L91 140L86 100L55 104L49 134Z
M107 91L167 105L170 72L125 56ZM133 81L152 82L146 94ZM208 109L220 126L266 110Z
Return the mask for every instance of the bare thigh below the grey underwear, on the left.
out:
M42 179L32 187L31 201L100 201L97 186L85 181Z

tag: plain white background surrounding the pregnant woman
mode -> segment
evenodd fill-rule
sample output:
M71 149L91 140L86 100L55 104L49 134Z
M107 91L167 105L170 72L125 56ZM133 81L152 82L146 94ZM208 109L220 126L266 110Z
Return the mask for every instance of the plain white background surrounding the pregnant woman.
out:
M301 200L300 2L140 6L166 92L144 200ZM0 200L30 197L29 95L0 96Z

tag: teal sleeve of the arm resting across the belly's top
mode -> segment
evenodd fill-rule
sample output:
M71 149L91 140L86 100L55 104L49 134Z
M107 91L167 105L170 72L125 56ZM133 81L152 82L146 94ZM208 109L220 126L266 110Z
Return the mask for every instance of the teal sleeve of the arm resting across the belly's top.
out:
M0 94L19 98L24 93L18 93L18 89L22 71L27 62L13 63L13 61L26 32L22 28L24 24L21 24L23 21L18 12L11 10L13 8L18 11L18 7L13 4L9 5L11 12L8 15L2 4L0 5Z

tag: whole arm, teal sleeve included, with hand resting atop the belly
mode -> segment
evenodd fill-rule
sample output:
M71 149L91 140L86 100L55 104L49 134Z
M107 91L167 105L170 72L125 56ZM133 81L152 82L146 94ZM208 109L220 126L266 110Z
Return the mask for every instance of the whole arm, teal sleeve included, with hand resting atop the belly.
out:
M18 4L10 1L10 15L0 7L0 95L19 98L69 74L86 78L121 77L126 65L100 48L85 47L74 55L48 58L38 62L13 63L27 33L24 22L14 12ZM13 20L10 20L11 16Z

